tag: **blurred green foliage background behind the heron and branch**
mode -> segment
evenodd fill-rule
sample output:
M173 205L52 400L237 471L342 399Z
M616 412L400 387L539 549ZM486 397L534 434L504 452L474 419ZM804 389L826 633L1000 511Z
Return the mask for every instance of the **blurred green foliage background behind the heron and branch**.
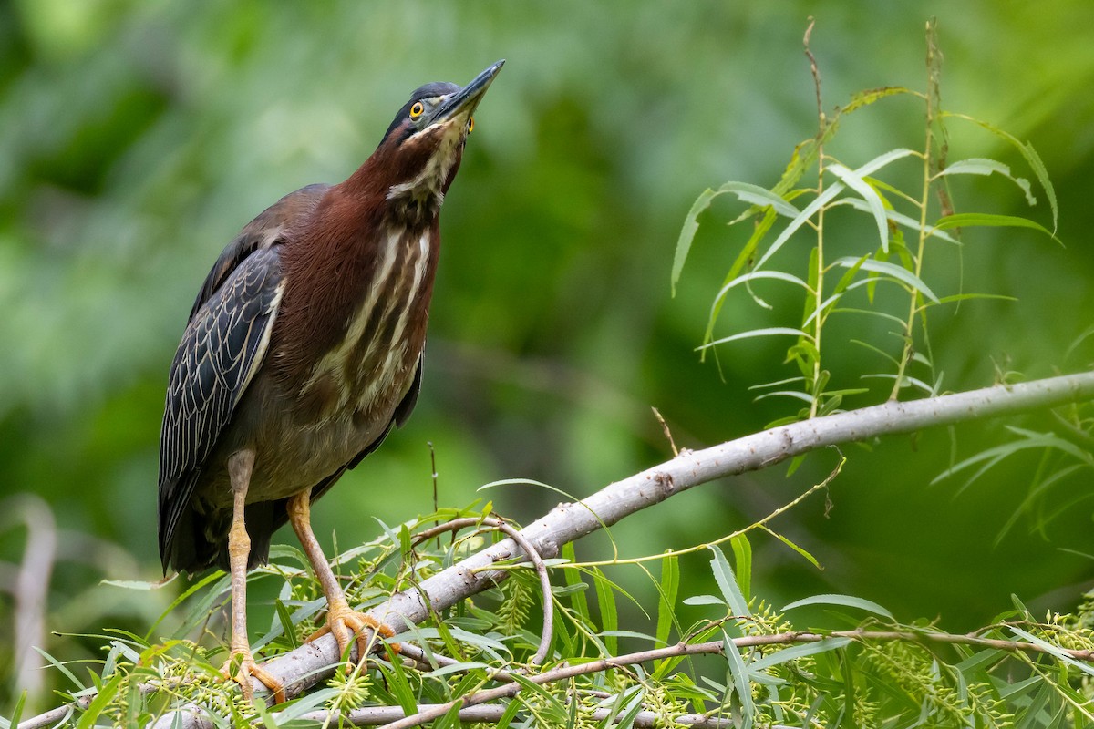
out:
M1064 353L1094 318L1089 0L0 3L0 707L23 687L48 704L43 689L65 685L53 669L9 668L14 633L39 630L16 618L43 614L46 632L142 634L176 593L98 580L160 576L163 388L194 294L242 225L290 190L348 176L423 82L465 83L508 59L442 214L418 410L321 502L326 544L333 530L345 548L376 532L374 517L395 524L431 510L427 443L442 505L519 477L580 496L671 456L651 405L688 447L793 412L754 403L746 389L793 374L781 364L784 341L723 348L718 364L695 352L746 235L721 224L740 205L702 217L675 298L668 275L703 188L770 186L814 133L802 55L810 15L828 108L862 89L922 90L923 24L936 15L944 105L1032 141L1056 184L1066 247L1028 232L976 232L959 258L929 271L936 291L1021 299L932 319L946 389L989 385L997 369L1086 367L1082 352ZM856 115L834 151L854 166L921 139L921 107L893 101ZM1028 176L993 137L954 129L952 142L952 158L992 156ZM1044 200L1029 211L1005 181L955 192L958 210L967 202L1050 225ZM871 249L862 231L866 243L841 245ZM783 266L803 270L806 245L788 249ZM734 298L719 331L796 324L796 301L765 295L775 313ZM882 367L847 344L865 337L858 326L829 340L828 364L850 385ZM958 632L1008 609L1011 593L1040 612L1073 608L1094 576L1086 473L1039 503L1070 504L1044 532L1043 519L1022 516L999 540L1036 455L961 492L957 479L928 485L951 458L1005 437L991 423L849 449L830 513L817 497L775 525L825 569L757 538L754 592L777 605L853 593ZM629 556L712 540L794 497L835 460L811 457L789 479L776 468L705 485L615 537ZM486 495L524 521L558 501L531 486ZM584 558L608 554L603 539L579 545ZM684 595L713 589L707 560L684 561ZM43 584L39 563L51 565L44 611L12 597ZM655 595L637 571L615 578L641 599ZM626 627L648 630L630 619ZM253 620L268 612L255 607ZM42 635L60 660L102 657L95 639Z

